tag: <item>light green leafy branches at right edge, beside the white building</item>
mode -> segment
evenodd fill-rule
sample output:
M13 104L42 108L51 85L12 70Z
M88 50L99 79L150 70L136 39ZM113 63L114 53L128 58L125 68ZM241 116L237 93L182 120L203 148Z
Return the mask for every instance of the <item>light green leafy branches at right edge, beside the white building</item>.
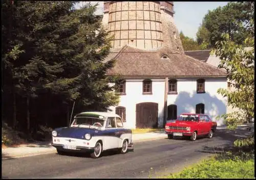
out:
M230 40L228 34L222 35L223 40L216 43L217 49L213 50L220 57L219 68L227 72L227 81L234 90L220 88L218 93L227 97L228 105L237 111L224 114L222 117L229 129L237 125L250 122L254 117L254 39L246 39L253 44L246 50L242 45L237 45Z

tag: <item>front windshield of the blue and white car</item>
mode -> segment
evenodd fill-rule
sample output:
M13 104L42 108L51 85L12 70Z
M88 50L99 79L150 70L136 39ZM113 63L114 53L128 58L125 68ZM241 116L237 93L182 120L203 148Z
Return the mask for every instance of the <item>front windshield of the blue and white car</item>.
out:
M104 120L92 117L76 117L73 126L80 126L80 125L88 125L88 126L97 126L103 127Z

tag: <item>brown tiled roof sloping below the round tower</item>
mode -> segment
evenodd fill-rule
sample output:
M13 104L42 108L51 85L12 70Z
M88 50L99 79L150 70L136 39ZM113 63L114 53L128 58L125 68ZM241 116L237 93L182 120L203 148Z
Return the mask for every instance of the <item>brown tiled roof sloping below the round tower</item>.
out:
M162 59L167 55L168 59ZM113 49L106 60L115 59L116 64L108 75L121 76L226 76L224 70L179 54L172 49L161 47L156 50L143 50L129 45Z

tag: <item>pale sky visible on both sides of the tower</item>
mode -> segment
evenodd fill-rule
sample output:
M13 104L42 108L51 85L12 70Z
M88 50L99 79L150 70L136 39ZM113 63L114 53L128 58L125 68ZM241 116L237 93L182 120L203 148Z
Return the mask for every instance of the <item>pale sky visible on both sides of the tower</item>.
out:
M84 2L79 2L76 8L79 9ZM92 1L91 4L98 3L95 14L103 14L103 2ZM214 10L219 6L225 6L228 2L174 2L174 21L179 32L185 36L196 40L196 34L203 17L208 10Z

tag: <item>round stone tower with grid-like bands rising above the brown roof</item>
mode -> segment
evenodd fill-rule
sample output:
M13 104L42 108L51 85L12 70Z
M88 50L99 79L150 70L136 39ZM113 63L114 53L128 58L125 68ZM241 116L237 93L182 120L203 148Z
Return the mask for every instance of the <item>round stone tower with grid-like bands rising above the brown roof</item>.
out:
M162 46L184 54L173 19L173 2L104 2L102 23L114 37L112 47L139 49Z

